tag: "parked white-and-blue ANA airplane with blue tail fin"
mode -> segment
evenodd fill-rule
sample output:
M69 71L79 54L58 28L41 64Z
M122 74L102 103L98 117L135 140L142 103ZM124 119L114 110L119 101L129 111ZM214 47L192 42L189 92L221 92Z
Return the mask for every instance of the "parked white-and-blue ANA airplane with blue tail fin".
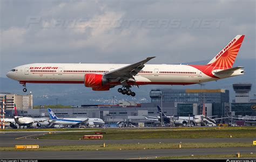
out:
M51 124L73 125L77 127L79 124L86 125L88 127L105 124L105 122L99 118L58 118L50 108L48 108L48 111Z

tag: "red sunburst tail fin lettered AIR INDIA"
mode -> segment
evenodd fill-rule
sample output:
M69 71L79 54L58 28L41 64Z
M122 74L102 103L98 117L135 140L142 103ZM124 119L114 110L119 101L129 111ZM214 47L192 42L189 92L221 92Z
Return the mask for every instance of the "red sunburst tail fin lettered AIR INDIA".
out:
M220 69L232 68L237 53L244 40L245 35L237 35L228 43L223 50L221 50L207 65L220 67Z

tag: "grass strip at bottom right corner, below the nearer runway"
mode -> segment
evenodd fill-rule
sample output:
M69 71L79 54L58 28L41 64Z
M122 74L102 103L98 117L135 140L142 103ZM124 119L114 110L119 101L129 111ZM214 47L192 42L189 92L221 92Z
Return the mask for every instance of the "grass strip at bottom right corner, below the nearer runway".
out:
M208 155L208 156L157 157L155 159L235 159L235 158L237 158L235 154L215 154L215 155ZM241 158L256 158L256 154L240 154L240 159Z

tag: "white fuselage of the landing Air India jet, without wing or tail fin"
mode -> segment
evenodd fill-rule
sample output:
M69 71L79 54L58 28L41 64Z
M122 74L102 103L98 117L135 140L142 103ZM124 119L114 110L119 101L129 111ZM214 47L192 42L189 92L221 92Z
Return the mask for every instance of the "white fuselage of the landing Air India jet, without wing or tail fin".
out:
M116 70L127 64L26 64L17 66L6 76L21 83L71 83L84 84L85 75ZM200 66L200 65L197 65ZM15 71L14 71L15 70ZM137 85L165 84L188 85L218 80L219 77L205 74L202 69L192 65L147 64L136 76ZM240 73L241 74L241 73ZM233 73L232 76L239 75ZM225 77L225 76L223 76ZM118 82L107 84L117 85Z

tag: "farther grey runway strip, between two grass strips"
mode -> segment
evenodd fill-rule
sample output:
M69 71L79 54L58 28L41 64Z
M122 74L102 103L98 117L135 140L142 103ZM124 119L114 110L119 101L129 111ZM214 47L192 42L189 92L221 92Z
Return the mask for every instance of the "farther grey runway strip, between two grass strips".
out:
M15 145L52 146L52 145L99 145L99 144L138 144L138 143L252 143L256 138L188 138L188 139L35 139L42 132L0 133L0 147L15 147ZM33 135L33 136L31 136ZM23 138L20 138L23 137ZM26 137L26 138L25 138ZM19 139L16 139L19 138Z

